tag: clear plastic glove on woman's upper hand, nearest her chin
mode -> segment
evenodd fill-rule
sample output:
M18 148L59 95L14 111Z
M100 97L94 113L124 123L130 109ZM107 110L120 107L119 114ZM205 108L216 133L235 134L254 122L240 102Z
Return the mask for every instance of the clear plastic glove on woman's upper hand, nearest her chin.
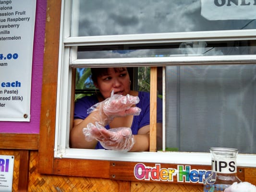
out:
M104 101L97 103L96 105L88 108L87 113L99 110L99 116L95 119L101 125L109 124L115 117L124 117L127 115L139 115L141 109L138 107L132 107L139 103L138 96L126 96L114 95L114 91L111 92L111 96Z

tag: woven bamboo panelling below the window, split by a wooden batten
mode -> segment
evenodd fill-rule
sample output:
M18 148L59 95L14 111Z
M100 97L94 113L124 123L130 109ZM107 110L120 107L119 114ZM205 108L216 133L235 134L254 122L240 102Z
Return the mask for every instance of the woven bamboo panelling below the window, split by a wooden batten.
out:
M37 173L38 152L30 152L29 192L119 192L119 181L42 175ZM202 186L157 182L131 182L130 192L200 192Z

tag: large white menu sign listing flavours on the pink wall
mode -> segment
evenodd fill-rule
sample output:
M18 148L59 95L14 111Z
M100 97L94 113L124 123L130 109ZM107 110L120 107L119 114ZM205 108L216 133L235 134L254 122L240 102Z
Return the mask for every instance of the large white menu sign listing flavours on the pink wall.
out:
M30 121L36 0L0 0L0 120Z

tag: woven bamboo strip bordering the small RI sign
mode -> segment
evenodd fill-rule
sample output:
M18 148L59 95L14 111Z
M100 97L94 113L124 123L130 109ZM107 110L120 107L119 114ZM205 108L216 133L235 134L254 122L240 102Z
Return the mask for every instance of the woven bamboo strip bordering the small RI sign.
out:
M20 151L19 150L9 150L9 149L0 149L0 155L14 156L12 192L17 192L18 191L18 182L19 182Z

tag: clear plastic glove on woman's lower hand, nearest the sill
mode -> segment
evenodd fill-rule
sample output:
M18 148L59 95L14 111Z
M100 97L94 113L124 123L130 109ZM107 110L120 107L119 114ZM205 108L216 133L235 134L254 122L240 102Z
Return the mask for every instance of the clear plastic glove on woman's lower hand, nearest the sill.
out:
M107 130L97 122L96 125L88 123L83 133L87 141L95 138L105 149L127 152L134 146L134 135L128 127Z

